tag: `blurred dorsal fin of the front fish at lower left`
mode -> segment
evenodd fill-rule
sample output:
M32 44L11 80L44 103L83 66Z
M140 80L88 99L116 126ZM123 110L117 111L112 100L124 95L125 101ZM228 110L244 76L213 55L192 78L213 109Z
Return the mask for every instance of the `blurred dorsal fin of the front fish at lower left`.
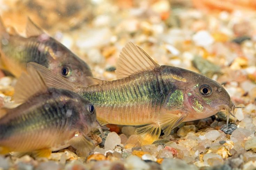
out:
M24 103L35 94L47 92L47 86L39 71L28 66L27 72L28 74L22 73L14 87L15 103Z

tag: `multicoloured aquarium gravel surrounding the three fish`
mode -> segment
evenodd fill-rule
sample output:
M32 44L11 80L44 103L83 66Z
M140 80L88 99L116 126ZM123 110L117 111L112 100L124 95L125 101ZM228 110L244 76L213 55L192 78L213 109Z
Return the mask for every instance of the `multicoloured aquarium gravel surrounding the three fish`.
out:
M207 0L204 0L204 2ZM210 0L208 0L210 1ZM6 25L23 33L26 16L83 59L93 76L116 79L119 53L132 41L159 65L201 73L223 84L238 107L226 127L226 112L183 122L170 135L141 146L135 127L107 125L89 156L72 147L49 159L0 156L1 169L256 169L256 11L203 10L189 0L0 1ZM195 0L193 1L195 2ZM255 5L255 4L254 4ZM253 5L252 5L253 6ZM225 9L225 8L224 8ZM246 17L245 17L246 16ZM16 79L0 73L0 105L12 101Z

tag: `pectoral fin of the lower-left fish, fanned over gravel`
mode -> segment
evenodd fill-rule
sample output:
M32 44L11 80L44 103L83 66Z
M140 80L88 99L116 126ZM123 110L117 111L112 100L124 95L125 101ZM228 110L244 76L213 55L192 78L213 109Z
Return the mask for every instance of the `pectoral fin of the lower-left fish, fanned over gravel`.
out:
M94 148L92 140L84 134L76 134L69 143L76 149L79 156L87 156Z

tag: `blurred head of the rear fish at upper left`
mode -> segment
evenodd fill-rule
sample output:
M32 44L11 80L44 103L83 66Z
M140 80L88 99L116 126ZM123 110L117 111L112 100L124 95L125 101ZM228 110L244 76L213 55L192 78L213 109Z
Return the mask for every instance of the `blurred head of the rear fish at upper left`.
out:
M53 41L56 41L53 39ZM69 79L71 82L76 82L86 85L84 77L92 76L91 69L78 56L72 53L64 45L59 42L53 43L48 50L49 69L53 70L56 74Z

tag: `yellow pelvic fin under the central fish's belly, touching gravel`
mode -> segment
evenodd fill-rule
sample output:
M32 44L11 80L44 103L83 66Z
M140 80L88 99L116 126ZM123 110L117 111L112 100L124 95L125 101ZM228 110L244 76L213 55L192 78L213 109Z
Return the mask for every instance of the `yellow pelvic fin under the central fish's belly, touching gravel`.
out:
M142 145L152 144L160 136L161 128L158 124L150 124L137 128L135 134L140 136Z

